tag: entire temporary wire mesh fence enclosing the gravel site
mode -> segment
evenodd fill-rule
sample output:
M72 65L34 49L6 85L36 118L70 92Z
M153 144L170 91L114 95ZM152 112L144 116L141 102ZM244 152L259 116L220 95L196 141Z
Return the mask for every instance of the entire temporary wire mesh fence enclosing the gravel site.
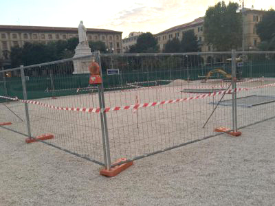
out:
M102 84L89 84L92 59ZM3 128L51 133L44 143L107 169L275 117L274 52L96 52L0 78Z

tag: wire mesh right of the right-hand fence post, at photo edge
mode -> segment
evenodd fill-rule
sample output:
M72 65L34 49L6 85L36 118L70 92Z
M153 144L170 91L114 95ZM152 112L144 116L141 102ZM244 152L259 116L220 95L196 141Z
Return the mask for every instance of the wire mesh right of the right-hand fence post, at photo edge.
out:
M242 55L240 52L236 54ZM248 52L243 54L246 65L243 71L250 73L249 78L251 82L239 84L240 88L248 88L250 90L237 93L237 98L245 98L256 95L258 97L265 96L265 99L270 99L275 95L275 53L274 52ZM272 86L272 87L269 87ZM253 89L254 88L254 89ZM248 104L253 104L254 101L250 99ZM264 121L275 117L274 102L267 104L259 104L249 108L237 108L237 124L241 128L256 122Z

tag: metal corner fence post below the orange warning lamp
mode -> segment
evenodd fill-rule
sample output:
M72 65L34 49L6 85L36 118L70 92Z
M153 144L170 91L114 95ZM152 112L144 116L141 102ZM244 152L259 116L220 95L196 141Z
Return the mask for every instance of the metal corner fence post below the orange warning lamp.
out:
M102 68L100 61L100 52L96 52L96 62L100 67L100 76L102 78ZM101 130L102 130L102 142L103 142L103 151L104 151L104 163L107 170L111 169L111 155L110 155L110 145L109 145L109 133L107 126L107 116L104 112L105 110L105 100L104 100L104 87L103 87L103 78L102 84L98 84L98 97L100 103L100 120L101 120Z

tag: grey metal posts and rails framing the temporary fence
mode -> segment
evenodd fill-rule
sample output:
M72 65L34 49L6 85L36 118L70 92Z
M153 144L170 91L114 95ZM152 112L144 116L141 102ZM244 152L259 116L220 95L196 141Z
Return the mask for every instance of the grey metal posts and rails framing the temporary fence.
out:
M199 52L199 53L181 53L181 54L165 54L165 53L159 53L159 54L100 54L99 52L95 52L94 54L92 54L91 56L95 56L96 57L96 62L99 63L100 65L100 75L102 76L102 67L101 67L101 58L102 57L129 57L129 56L137 56L137 57L140 57L140 56L174 56L174 55L181 55L181 56L190 56L190 55L203 55L203 54L230 54L232 56L232 130L230 131L233 131L233 132L236 132L238 129L241 129L241 128L245 128L246 126L238 126L238 115L237 115L237 106L236 106L236 55L244 55L244 54L275 54L275 52L236 52L235 50L232 50L232 52ZM83 56L83 57L91 57L90 55L89 56ZM83 57L80 57L80 58L83 58ZM31 65L31 66L27 66L27 67L19 67L19 68L14 68L14 69L6 69L4 71L0 71L0 73L4 73L4 72L8 72L8 71L17 71L20 69L21 71L21 82L22 82L22 88L23 88L23 100L28 100L28 91L26 89L26 84L25 84L25 73L24 73L24 69L32 69L34 67L41 67L41 66L45 66L45 65L50 65L50 64L54 64L54 63L61 63L61 62L67 62L69 60L75 60L76 58L69 58L69 59L65 59L65 60L58 60L58 61L55 61L55 62L47 62L47 63L43 63L43 64L39 64L39 65ZM250 67L252 67L252 63L250 63ZM251 71L251 76L252 76L252 69L250 69ZM5 82L5 76L3 76L3 87L4 87L4 93L5 95L7 95L7 86L6 86L6 82ZM52 87L54 87L54 85L52 85ZM112 167L114 167L115 165L120 165L122 163L126 163L126 162L129 162L129 161L133 161L133 160L136 160L136 159L142 159L143 157L148 157L150 155L155 155L157 153L160 153L160 152L165 152L167 150L171 150L173 148L179 148L181 146L185 146L187 144L192 144L194 142L197 142L197 141L201 141L201 140L204 140L204 139L208 139L210 137L215 137L217 135L221 135L223 133L217 133L215 135L208 135L206 137L201 137L199 139L196 139L196 140L192 140L192 141L188 141L188 142L185 142L185 143L182 143L182 144L178 144L177 146L170 146L170 147L167 147L167 148L164 148L162 150L157 150L157 151L154 151L154 152L151 152L151 153L146 153L144 155L140 155L140 156L137 156L137 157L134 157L134 158L131 158L131 159L127 159L126 161L121 161L119 163L111 163L111 152L110 152L110 142L109 142L109 130L108 130L108 122L107 122L107 115L106 115L106 112L105 112L105 100L104 100L104 85L103 84L98 84L98 100L99 100L99 105L100 105L100 126L101 126L101 133L102 133L102 147L103 147L103 156L104 156L104 163L101 163L99 161L96 161L94 159L90 159L88 157L82 157L81 155L78 155L77 153L75 152L71 152L69 150L66 150L64 148L61 148L61 147L58 147L58 146L55 146L55 145L52 145L52 144L49 144L47 143L47 141L42 141L43 143L45 144L48 144L50 146L54 146L55 148L58 148L58 149L61 149L65 152L69 152L73 155L76 155L78 157L82 157L84 159L87 159L89 161L93 161L95 163L98 163L100 165L104 165L104 167L107 169L107 170L110 170ZM30 137L30 138L35 138L32 136L32 127L31 127L31 124L30 124L30 116L29 116L29 108L28 108L28 103L24 103L25 104L25 119L26 119L26 128L27 128L27 131L28 131L28 134L23 134L23 135L26 135L27 137ZM275 117L275 116L274 116ZM247 126L251 126L253 124L258 124L259 122L263 122L263 121L266 121L266 120L269 120L269 119L273 119L274 117L270 117L270 118L267 118L267 119L263 119L261 121L258 121L258 122L254 122L252 124L248 124ZM2 126L3 127L3 126ZM6 129L9 129L8 127L3 127L3 128L6 128ZM18 131L14 131L14 132L17 132L19 133ZM228 131L226 132L228 133ZM21 133L22 134L22 133Z

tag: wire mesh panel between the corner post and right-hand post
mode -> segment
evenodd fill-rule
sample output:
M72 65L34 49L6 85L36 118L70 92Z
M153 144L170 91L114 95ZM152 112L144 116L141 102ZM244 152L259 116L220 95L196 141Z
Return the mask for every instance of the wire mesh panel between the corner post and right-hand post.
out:
M208 56L215 59L215 63ZM107 113L111 162L126 157L139 159L213 135L214 128L232 125L232 108L217 108L203 128L221 95L186 100L198 95L184 89L230 88L230 53L224 54L162 54L108 55L102 54L104 97L111 108L127 108L139 104L142 108L122 109ZM204 60L209 60L204 64ZM221 63L223 62L223 63ZM118 75L107 75L109 69L120 69ZM201 92L201 93L199 93ZM208 95L208 94L206 94ZM225 95L230 99L232 95ZM168 100L182 100L162 104ZM154 103L155 102L155 103ZM156 104L155 106L152 106Z

